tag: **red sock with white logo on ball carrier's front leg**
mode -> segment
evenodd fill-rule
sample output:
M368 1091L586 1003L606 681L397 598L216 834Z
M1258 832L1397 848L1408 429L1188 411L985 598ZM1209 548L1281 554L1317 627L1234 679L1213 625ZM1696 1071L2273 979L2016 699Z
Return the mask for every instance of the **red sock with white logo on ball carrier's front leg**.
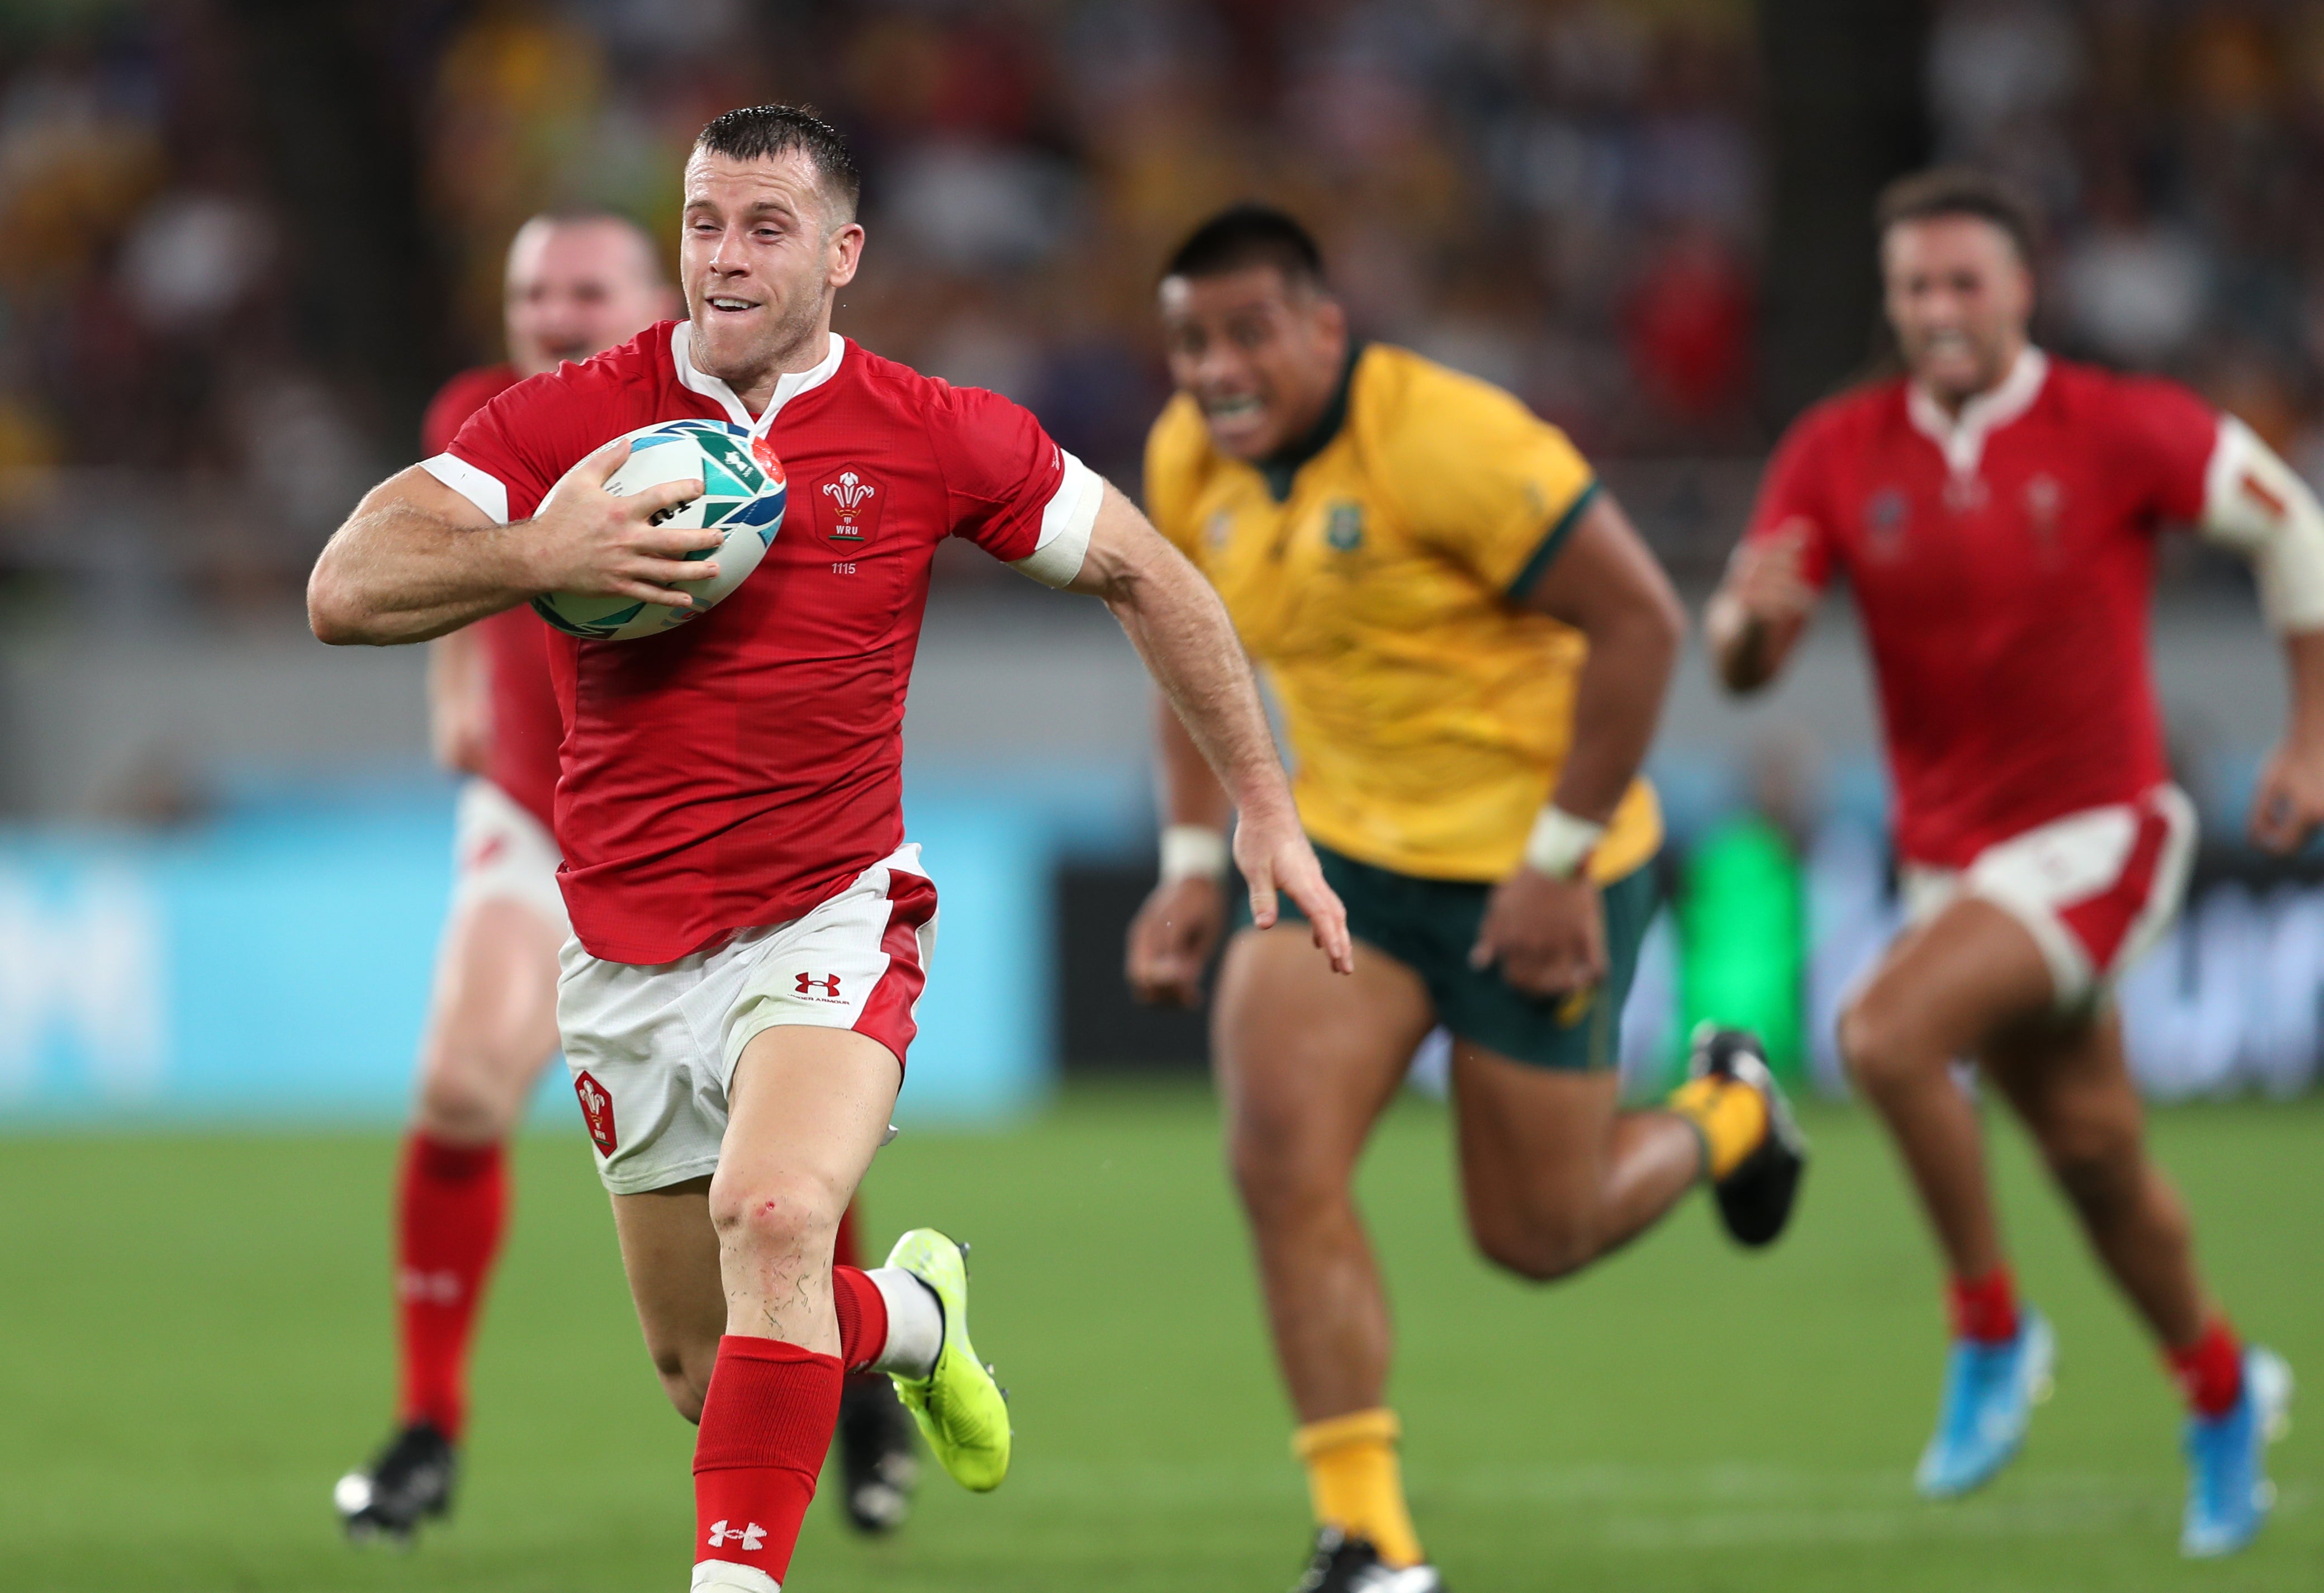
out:
M730 1560L781 1581L839 1426L834 1356L737 1333L718 1340L695 1440L695 1563Z

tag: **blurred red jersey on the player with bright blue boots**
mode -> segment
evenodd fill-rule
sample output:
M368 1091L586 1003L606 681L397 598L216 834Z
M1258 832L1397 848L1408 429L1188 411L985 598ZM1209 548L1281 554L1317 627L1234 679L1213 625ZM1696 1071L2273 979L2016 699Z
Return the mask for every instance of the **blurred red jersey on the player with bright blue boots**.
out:
M2168 779L2147 660L2154 535L2203 512L2219 416L2029 349L1959 421L1906 381L1792 426L1748 537L1845 570L1880 677L1896 849L1964 867Z

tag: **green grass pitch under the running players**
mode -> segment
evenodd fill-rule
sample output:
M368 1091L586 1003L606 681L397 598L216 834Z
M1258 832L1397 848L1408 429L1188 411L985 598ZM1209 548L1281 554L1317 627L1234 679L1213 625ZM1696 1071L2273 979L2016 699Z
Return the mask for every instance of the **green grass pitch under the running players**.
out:
M1364 1172L1401 1323L1413 1507L1459 1593L2064 1593L2324 1586L2324 1412L2275 1451L2282 1507L2224 1565L2175 1558L2178 1414L2038 1188L1999 1172L2057 1400L1985 1495L1908 1470L1941 1351L1936 1272L1871 1126L1810 1114L1817 1167L1771 1256L1706 1202L1594 1272L1527 1288L1466 1249L1446 1119ZM2324 1400L2324 1105L2164 1112L2210 1277ZM458 1521L416 1553L339 1542L330 1484L388 1414L393 1142L0 1142L0 1588L316 1593L683 1588L693 1430L662 1402L588 1144L528 1140L488 1307ZM1208 1095L1074 1091L999 1137L906 1133L876 1235L976 1242L976 1342L1013 1393L1009 1484L930 1477L860 1544L818 1500L797 1593L1278 1593L1306 1537Z

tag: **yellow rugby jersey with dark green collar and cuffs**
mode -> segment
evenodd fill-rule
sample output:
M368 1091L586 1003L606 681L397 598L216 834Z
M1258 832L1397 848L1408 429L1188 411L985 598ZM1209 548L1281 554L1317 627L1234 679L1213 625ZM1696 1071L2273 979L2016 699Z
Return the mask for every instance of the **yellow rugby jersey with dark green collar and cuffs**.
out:
M1597 493L1508 393L1364 347L1294 463L1211 447L1176 395L1146 440L1146 507L1211 579L1283 705L1299 816L1325 846L1427 879L1504 879L1573 740L1587 640L1511 600ZM1590 872L1655 856L1636 781Z

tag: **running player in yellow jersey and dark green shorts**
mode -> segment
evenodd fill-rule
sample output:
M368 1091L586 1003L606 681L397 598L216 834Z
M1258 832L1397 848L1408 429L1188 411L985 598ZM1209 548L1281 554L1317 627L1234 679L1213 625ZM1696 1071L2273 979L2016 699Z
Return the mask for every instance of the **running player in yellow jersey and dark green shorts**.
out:
M1301 1591L1436 1593L1385 1409L1387 1300L1350 1195L1429 1028L1452 1033L1469 1233L1564 1277L1697 1181L1785 1226L1803 1146L1757 1044L1706 1035L1662 1109L1618 1109L1615 1026L1655 905L1638 765L1683 619L1566 437L1508 393L1357 347L1297 221L1199 228L1162 277L1178 395L1146 507L1264 665L1355 977L1241 926L1213 1051L1318 1542ZM1129 930L1146 1000L1195 1002L1225 933L1229 807L1162 712L1162 884Z

